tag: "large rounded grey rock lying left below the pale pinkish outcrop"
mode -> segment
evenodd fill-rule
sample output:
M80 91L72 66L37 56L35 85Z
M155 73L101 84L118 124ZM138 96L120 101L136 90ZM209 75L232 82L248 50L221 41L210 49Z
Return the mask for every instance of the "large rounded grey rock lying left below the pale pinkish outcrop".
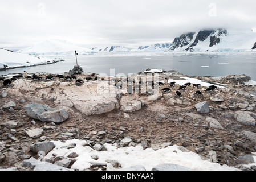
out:
M29 117L38 119L42 122L61 123L67 120L68 114L64 109L54 109L47 105L32 102L25 106Z

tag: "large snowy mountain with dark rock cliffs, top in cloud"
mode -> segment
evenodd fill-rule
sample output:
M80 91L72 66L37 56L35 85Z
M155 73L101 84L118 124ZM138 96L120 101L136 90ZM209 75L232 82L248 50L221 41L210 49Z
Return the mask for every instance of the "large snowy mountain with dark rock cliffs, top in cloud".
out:
M256 33L218 28L182 34L175 38L169 51L253 51L256 49Z

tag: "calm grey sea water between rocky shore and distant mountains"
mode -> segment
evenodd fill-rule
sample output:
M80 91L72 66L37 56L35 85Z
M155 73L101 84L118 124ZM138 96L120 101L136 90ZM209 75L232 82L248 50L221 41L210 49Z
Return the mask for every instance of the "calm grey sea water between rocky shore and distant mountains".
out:
M50 56L46 56L50 57ZM51 56L65 59L63 62L39 65L29 68L16 68L0 71L0 75L10 73L64 73L76 65L74 56ZM132 74L148 68L158 68L165 71L177 71L188 76L250 76L256 80L256 52L128 52L128 53L96 53L93 55L78 55L78 65L84 72L99 73L113 76ZM112 70L112 71L111 71Z

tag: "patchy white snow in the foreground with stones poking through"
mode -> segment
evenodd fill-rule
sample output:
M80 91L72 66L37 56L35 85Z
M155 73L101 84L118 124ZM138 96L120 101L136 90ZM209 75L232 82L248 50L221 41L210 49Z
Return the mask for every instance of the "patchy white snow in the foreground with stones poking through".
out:
M143 150L143 147L137 145L135 147L124 147L117 148L117 144L104 144L107 151L96 151L91 147L84 146L86 141L84 140L67 140L66 142L52 141L55 144L55 148L49 152L45 159L50 159L52 154L58 156L64 156L68 158L72 152L76 152L79 156L76 158L76 162L73 164L71 169L76 169L79 171L90 168L91 163L106 163L106 160L116 160L122 166L122 168L127 168L135 165L142 165L147 171L151 171L153 167L164 164L172 163L178 164L184 167L188 167L195 171L236 171L237 168L229 167L227 165L221 166L218 163L212 163L208 160L202 160L200 155L194 152L182 152L178 149L178 146L169 146L166 148L161 148L160 150L153 150L152 148L147 148ZM68 144L75 143L76 147L67 149L61 148L67 146ZM98 160L94 160L91 156L97 155ZM110 165L108 165L110 166ZM111 171L114 168L109 168Z

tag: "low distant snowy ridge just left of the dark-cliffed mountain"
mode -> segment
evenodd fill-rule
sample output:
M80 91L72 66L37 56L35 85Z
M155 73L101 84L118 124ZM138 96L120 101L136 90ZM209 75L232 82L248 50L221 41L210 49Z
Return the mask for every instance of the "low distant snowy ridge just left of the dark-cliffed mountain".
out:
M172 44L153 44L151 46L140 46L132 49L131 52L152 52L152 51L168 51Z

